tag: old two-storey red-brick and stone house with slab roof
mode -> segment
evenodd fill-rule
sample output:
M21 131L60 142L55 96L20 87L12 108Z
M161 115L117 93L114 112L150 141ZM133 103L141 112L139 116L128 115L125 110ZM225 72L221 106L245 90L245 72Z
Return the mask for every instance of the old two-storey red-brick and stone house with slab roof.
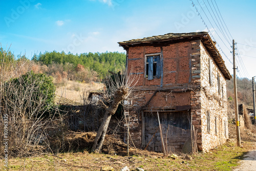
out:
M228 138L226 79L231 75L207 32L168 33L118 42L126 50L128 73L139 75L137 98L129 102L130 131L137 147L181 151L196 130L207 152ZM157 116L159 114L159 118Z

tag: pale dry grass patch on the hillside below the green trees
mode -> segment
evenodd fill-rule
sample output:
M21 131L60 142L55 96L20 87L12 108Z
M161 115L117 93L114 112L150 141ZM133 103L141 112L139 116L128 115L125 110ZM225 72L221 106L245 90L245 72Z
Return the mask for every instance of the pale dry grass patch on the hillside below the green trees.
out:
M57 85L56 94L75 102L82 102L82 95L87 91L103 89L103 83L82 83L77 81L65 81Z

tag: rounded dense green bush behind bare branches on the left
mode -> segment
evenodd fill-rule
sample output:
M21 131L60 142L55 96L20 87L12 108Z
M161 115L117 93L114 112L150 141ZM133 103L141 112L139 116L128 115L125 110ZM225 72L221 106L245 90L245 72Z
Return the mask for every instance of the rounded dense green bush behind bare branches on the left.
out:
M20 109L19 113L46 111L54 105L55 86L52 78L46 74L35 74L30 71L11 79L5 83L4 92L9 110Z

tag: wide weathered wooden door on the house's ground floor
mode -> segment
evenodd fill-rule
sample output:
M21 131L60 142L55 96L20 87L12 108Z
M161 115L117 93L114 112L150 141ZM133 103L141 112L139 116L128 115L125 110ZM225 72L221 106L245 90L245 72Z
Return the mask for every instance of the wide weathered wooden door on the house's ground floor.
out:
M167 151L181 151L183 144L189 138L188 112L159 112L159 118ZM148 151L162 152L157 113L143 112L142 124L144 124L142 146L148 144Z

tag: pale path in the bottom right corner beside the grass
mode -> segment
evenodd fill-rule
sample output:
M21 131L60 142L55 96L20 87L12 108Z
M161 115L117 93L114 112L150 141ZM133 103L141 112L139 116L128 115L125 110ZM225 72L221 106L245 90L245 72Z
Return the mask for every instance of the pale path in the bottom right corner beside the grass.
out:
M256 150L245 155L241 165L233 171L255 171L256 170Z

